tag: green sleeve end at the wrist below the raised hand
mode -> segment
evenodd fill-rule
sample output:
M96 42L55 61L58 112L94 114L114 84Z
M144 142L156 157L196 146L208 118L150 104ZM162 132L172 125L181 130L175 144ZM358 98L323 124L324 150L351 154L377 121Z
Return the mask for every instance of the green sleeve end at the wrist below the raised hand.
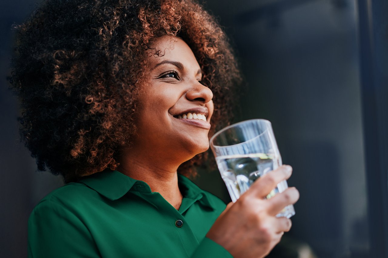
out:
M205 237L191 258L233 258L233 256L225 248Z

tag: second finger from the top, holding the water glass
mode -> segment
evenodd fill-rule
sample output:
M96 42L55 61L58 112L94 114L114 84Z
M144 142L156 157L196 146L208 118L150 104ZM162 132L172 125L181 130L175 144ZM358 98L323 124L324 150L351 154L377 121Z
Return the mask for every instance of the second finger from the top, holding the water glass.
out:
M295 187L287 188L268 200L268 214L274 216L287 205L296 203L298 199L299 191Z

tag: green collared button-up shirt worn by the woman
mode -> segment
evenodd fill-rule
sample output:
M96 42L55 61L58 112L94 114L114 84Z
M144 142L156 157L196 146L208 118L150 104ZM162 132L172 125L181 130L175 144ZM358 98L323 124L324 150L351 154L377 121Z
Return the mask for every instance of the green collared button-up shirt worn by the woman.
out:
M178 184L179 210L118 171L64 185L31 213L28 257L232 257L205 237L225 203L184 176Z

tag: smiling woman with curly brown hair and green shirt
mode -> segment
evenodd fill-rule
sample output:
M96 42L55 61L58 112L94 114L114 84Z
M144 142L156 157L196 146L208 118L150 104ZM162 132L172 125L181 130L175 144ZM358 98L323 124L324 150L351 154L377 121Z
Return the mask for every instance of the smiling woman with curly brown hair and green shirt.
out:
M226 208L183 176L240 80L196 2L48 0L18 33L21 135L68 183L31 213L29 257L263 257L289 230L297 190L265 196L291 167Z

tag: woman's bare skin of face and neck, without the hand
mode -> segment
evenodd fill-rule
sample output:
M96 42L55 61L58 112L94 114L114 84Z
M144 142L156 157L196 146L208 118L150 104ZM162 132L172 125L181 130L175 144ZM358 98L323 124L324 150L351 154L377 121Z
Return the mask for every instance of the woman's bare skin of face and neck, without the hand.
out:
M153 55L158 50L164 55ZM118 171L145 181L178 209L182 194L177 169L209 148L213 93L200 83L199 64L182 39L158 38L145 55L147 73L141 86L137 137L130 149L122 150ZM189 111L204 114L207 121L174 117Z

